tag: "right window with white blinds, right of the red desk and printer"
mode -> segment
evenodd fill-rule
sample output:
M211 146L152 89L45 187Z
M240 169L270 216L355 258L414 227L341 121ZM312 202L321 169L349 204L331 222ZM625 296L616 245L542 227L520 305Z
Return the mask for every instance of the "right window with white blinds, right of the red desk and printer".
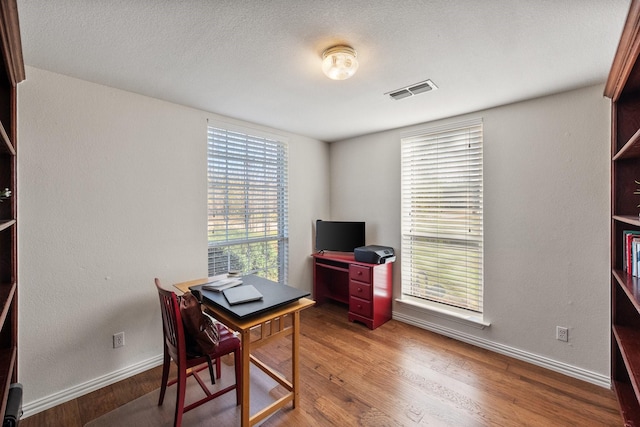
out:
M403 297L482 313L482 121L401 146Z

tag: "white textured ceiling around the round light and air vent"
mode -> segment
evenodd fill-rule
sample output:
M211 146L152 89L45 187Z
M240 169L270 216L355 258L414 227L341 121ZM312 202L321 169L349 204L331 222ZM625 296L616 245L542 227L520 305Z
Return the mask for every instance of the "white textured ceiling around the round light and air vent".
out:
M603 83L629 5L18 0L18 13L26 65L336 141ZM358 52L349 80L320 69L338 42ZM384 95L426 79L439 89Z

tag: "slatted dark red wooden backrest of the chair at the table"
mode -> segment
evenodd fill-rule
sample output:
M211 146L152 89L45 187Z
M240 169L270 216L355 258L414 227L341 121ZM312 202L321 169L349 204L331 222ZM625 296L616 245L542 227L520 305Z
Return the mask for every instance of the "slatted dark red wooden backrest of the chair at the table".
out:
M178 297L175 292L163 289L157 278L155 282L160 297L165 349L178 366L185 366L187 351Z

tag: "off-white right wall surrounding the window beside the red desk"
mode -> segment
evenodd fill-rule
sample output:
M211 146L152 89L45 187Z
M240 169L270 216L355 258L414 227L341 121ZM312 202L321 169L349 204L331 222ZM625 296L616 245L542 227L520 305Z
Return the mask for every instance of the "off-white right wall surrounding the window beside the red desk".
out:
M608 384L610 103L602 92L593 86L331 145L331 217L365 220L368 244L400 252L400 133L483 119L491 326L398 302L395 318ZM569 343L555 339L556 325L569 327Z

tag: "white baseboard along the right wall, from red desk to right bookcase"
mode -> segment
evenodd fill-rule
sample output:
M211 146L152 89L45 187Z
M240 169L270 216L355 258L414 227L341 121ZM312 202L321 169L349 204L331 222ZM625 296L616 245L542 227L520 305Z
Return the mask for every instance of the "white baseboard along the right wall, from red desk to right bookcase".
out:
M576 366L569 365L564 362L558 362L557 360L550 359L548 357L540 356L527 351L519 350L517 348L509 347L493 341L485 340L475 337L473 335L465 334L455 329L450 329L437 325L435 323L427 322L422 319L417 319L412 316L407 316L404 313L393 312L393 318L400 322L408 323L413 326L417 326L428 331L435 332L440 335L444 335L458 341L466 342L477 347L481 347L487 350L491 350L496 353L503 354L505 356L513 357L514 359L522 360L524 362L531 363L533 365L540 366L561 374L577 378L582 381L589 382L591 384L598 385L604 388L611 388L611 378L607 375L602 375L597 372L588 371Z

